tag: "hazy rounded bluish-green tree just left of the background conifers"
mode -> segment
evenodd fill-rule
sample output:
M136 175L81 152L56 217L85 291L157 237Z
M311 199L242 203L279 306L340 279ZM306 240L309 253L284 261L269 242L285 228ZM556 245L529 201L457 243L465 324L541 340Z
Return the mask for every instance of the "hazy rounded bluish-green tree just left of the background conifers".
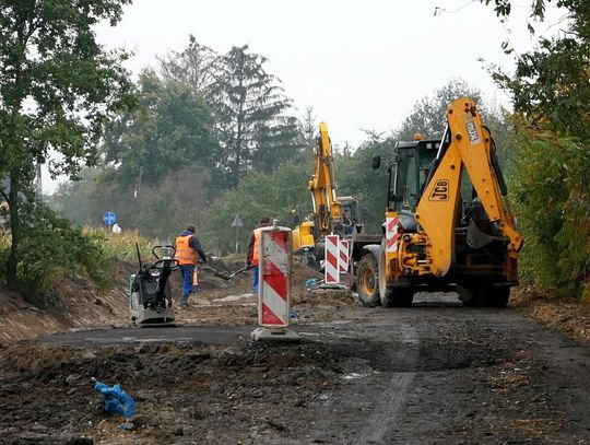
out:
M119 184L154 185L194 162L214 167L213 120L198 93L146 70L138 97L138 106L115 119L105 136L105 161L116 165Z

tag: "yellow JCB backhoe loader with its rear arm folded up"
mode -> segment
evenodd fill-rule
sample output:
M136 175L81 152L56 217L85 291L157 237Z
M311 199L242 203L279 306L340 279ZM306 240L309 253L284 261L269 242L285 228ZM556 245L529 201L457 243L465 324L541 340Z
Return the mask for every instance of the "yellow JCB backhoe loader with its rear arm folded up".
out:
M494 140L470 98L450 104L447 122L440 141L396 144L381 243L353 258L366 306L410 306L415 292L456 291L464 305L505 307L518 284L522 237Z

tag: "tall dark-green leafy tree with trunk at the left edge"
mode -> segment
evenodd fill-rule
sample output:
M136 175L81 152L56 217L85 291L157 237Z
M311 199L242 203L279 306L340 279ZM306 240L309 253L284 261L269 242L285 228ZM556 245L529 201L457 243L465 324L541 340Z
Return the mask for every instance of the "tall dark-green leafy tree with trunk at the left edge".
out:
M107 52L93 26L119 22L129 0L4 0L0 3L0 196L12 234L7 281L19 290L23 201L35 163L60 154L52 174L75 175L96 161L103 124L122 107L130 84L123 51Z

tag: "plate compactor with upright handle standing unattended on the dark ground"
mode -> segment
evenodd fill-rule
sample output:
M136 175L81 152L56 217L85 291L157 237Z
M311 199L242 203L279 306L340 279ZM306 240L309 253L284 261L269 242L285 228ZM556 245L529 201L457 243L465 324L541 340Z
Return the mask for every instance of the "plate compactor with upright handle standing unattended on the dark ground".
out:
M129 279L129 316L133 326L162 326L174 323L174 300L170 273L177 269L173 245L158 244L152 248L154 262L142 264L138 250L139 270Z

